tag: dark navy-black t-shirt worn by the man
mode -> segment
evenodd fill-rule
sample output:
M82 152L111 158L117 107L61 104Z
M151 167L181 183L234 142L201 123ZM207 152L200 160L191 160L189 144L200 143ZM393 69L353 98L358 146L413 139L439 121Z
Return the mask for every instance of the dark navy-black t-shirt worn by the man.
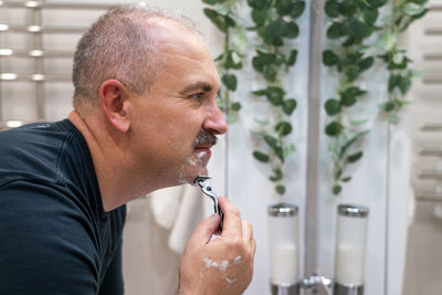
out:
M69 119L0 133L0 294L123 294L125 217Z

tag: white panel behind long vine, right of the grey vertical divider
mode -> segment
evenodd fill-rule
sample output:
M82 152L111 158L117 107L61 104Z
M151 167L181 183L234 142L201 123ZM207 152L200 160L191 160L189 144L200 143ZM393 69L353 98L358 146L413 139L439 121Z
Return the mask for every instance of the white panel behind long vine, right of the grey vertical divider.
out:
M325 25L328 27L329 23L326 21ZM329 46L327 40L324 46ZM356 120L367 119L365 127L369 128L370 133L361 141L364 157L358 162L349 165L347 172L344 173L344 176L352 176L351 181L344 185L339 197L335 197L332 193L332 158L328 152L330 138L324 133L329 120L324 104L328 98L336 97L338 82L335 70L325 66L323 69L318 176L318 271L328 277L334 276L337 206L339 203L367 206L370 212L365 257L365 294L387 295L385 294L385 267L389 130L386 119L377 114L379 104L386 101L388 77L376 66L362 75L365 78L360 87L367 89L368 95L358 99L358 105L351 107L349 114Z

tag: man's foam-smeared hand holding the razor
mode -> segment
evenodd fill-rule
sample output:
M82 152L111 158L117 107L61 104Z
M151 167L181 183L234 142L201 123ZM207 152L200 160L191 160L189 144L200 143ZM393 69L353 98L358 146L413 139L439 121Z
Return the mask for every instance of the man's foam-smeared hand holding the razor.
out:
M252 225L241 220L228 199L220 197L219 204L223 231L212 239L220 224L218 214L198 224L181 260L179 295L241 294L252 280L256 249Z

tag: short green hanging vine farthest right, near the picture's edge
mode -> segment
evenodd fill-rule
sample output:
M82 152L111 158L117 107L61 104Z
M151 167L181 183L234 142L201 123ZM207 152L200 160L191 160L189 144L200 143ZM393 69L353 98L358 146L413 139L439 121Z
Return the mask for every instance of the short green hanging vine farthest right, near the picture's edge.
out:
M388 99L380 107L391 124L399 122L399 110L409 104L404 96L411 87L412 78L417 75L409 67L411 60L407 56L407 51L399 48L400 35L413 21L428 12L427 2L428 0L393 0L391 12L382 25L378 44L385 53L379 57L387 65L389 78Z

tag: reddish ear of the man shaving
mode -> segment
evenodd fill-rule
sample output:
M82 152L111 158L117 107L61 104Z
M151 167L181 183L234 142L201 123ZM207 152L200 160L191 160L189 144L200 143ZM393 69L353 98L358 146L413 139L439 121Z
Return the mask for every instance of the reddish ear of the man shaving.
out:
M128 91L117 80L106 80L99 86L99 101L109 123L123 133L130 127Z

